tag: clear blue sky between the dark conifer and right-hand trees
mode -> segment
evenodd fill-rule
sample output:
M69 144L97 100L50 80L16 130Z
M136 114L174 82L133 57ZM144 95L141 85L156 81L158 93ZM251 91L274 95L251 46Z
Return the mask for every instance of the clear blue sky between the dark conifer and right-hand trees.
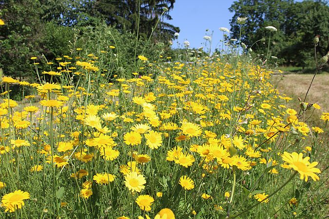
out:
M180 28L178 42L182 45L185 40L190 42L190 47L203 46L206 29L213 31L212 51L223 37L223 32L218 28L230 29L230 19L233 13L229 12L234 0L176 0L174 9L170 11L172 20L168 22ZM301 1L301 0L297 0ZM177 47L177 40L174 41ZM182 46L181 46L182 47Z

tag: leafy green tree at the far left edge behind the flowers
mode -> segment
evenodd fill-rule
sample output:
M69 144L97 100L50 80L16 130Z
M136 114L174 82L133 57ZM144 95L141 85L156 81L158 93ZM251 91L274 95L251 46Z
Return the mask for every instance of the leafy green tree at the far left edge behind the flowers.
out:
M14 77L32 74L30 57L39 55L44 30L39 9L39 0L0 2L1 17L5 20L0 27L0 67L4 74Z

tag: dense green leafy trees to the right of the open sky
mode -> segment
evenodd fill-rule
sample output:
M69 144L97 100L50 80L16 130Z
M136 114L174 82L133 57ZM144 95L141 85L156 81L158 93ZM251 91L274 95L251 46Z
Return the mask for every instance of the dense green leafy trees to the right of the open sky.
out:
M240 26L238 17L247 17L242 29L242 41L251 46L255 41L268 36L266 26L278 31L271 36L272 55L281 58L283 64L308 66L313 58L312 39L320 38L319 53L329 50L328 19L329 6L324 0L238 0L229 8L234 15L231 19L232 37L238 38ZM258 54L266 54L267 44L257 43L252 48Z

